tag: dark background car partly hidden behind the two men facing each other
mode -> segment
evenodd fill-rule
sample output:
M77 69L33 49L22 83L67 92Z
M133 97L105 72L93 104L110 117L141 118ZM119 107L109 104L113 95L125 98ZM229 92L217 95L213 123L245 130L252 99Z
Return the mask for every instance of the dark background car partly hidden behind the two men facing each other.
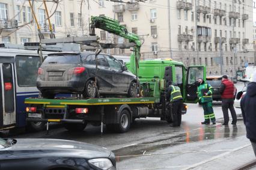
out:
M221 93L219 93L219 88L221 88L222 76L221 75L207 76L206 80L213 87L213 94L212 94L213 100L221 101ZM228 76L228 80L233 81L230 76ZM236 96L236 92L237 92L237 90L236 90L236 87L235 87L234 97Z

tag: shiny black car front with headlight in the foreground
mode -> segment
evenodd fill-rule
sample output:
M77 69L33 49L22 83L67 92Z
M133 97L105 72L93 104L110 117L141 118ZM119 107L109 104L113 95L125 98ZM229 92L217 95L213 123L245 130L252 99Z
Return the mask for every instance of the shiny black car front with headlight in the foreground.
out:
M106 148L59 139L0 138L1 170L115 170L115 155Z

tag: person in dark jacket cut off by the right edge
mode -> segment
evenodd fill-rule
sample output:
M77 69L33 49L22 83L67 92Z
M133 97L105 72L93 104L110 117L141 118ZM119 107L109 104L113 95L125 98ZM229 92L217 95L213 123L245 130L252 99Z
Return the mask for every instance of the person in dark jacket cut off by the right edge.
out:
M243 123L246 126L246 136L252 143L256 156L256 72L252 76L252 82L248 84L246 94L243 96L240 106L243 115Z

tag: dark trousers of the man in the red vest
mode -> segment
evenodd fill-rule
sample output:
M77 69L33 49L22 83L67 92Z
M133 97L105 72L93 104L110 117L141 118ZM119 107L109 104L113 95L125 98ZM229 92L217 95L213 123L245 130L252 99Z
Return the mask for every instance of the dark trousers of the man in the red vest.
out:
M234 109L234 99L222 99L222 112L224 117L224 123L228 123L230 121L230 117L228 116L228 109L230 109L231 116L232 116L232 123L236 124L237 117L236 111Z

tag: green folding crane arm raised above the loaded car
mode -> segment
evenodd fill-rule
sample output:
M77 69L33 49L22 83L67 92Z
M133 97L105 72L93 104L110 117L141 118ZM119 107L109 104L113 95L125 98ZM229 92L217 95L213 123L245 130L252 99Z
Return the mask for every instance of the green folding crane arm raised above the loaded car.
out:
M90 35L95 35L95 28L126 38L129 40L129 43L135 43L132 55L130 55L130 71L137 75L139 68L138 61L141 58L140 50L142 45L141 40L139 40L139 36L128 32L124 26L120 25L118 20L111 19L106 16L91 16Z

